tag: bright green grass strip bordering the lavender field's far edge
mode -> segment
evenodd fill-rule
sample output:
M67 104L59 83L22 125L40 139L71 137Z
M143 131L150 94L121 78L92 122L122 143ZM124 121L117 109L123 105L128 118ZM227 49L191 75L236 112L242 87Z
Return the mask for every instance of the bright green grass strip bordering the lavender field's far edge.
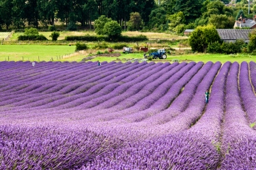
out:
M42 45L2 45L0 46L0 61L82 61L83 58L96 54L98 51L104 52L104 50L87 50L82 52L74 52L75 46L42 46ZM121 52L115 51L115 52ZM119 57L109 56L96 56L91 61L130 61L132 59L143 59L143 53L122 54ZM225 63L231 61L232 63L237 61L256 61L256 56L249 54L186 54L185 52L177 52L176 54L168 54L166 60L154 60L155 62L173 62L178 60L180 62L186 61L208 61Z

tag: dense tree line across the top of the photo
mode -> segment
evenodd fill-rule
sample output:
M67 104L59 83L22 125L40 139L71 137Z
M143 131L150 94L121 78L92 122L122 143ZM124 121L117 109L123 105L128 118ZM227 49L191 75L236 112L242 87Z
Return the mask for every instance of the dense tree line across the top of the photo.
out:
M240 10L248 18L256 12L255 2L237 0L1 0L0 29L20 29L25 26L48 27L56 21L72 30L76 25L92 29L92 22L106 16L117 21L122 29L173 31L213 24L217 29L230 29ZM249 10L248 10L249 9ZM248 10L248 14L247 14ZM139 15L139 16L138 16ZM135 17L136 16L136 17ZM134 18L141 18L132 24ZM139 23L139 25L138 25Z

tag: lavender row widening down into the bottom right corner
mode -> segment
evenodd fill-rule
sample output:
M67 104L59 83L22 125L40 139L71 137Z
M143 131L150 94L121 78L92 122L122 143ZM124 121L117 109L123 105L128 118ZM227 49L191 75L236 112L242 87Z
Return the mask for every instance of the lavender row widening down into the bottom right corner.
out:
M244 69L241 67L241 69ZM233 63L227 77L226 114L223 122L223 161L220 169L255 169L256 132L248 125L238 88L239 64ZM241 75L244 76L244 75ZM240 151L239 151L240 150ZM236 151L236 152L234 152Z

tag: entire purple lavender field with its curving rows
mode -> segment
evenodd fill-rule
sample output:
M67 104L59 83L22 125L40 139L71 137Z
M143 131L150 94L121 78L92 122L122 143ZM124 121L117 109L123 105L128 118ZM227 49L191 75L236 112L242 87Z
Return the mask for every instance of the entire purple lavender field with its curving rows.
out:
M0 62L0 169L256 169L255 88L254 62Z

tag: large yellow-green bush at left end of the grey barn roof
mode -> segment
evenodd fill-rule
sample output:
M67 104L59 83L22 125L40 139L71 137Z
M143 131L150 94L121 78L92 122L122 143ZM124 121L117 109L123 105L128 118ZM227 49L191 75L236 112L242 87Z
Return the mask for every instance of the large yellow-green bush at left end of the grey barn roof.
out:
M199 26L190 35L189 44L194 52L205 52L208 45L221 41L216 28L213 25Z

